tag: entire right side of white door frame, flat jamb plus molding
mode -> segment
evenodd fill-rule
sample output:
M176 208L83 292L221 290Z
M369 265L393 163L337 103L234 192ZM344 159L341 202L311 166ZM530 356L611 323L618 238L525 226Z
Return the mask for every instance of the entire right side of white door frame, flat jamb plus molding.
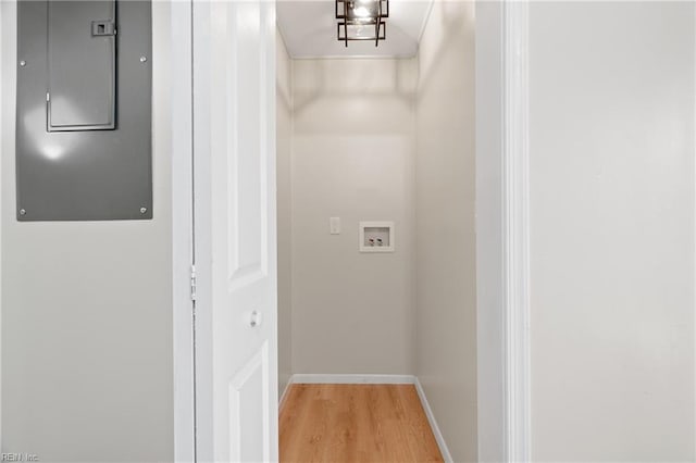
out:
M530 450L527 0L476 0L478 460Z

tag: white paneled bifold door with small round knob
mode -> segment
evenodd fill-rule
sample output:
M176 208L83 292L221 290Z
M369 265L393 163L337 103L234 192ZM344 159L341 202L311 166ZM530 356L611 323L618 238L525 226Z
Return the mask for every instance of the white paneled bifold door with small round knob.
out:
M277 461L275 3L194 3L198 461Z

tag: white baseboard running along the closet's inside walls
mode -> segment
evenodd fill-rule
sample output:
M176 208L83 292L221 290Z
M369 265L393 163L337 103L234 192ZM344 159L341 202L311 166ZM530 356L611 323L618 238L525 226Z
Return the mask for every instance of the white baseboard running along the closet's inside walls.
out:
M283 391L281 397L279 406L283 406L287 397L287 391L290 385L294 384L339 384L339 385L413 385L418 397L421 400L421 405L427 417L427 422L433 430L433 436L439 447L439 452L443 454L443 460L446 463L453 463L452 455L449 453L443 433L440 433L435 415L431 405L427 403L425 391L421 386L421 381L413 375L332 375L332 374L296 374L290 376L290 379Z

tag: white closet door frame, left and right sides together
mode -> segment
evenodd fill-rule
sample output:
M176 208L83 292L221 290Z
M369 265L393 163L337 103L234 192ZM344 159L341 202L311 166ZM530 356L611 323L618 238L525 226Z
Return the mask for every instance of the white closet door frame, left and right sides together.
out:
M530 450L526 0L476 1L476 245L480 461ZM172 2L175 461L195 459L191 2ZM202 29L200 29L202 30ZM204 89L203 89L204 91ZM197 118L197 121L200 121ZM204 121L200 121L204 123ZM207 204L196 204L206 210ZM200 278L203 278L201 281ZM199 275L199 285L204 285ZM198 392L199 400L204 395ZM204 461L204 455L198 455Z

